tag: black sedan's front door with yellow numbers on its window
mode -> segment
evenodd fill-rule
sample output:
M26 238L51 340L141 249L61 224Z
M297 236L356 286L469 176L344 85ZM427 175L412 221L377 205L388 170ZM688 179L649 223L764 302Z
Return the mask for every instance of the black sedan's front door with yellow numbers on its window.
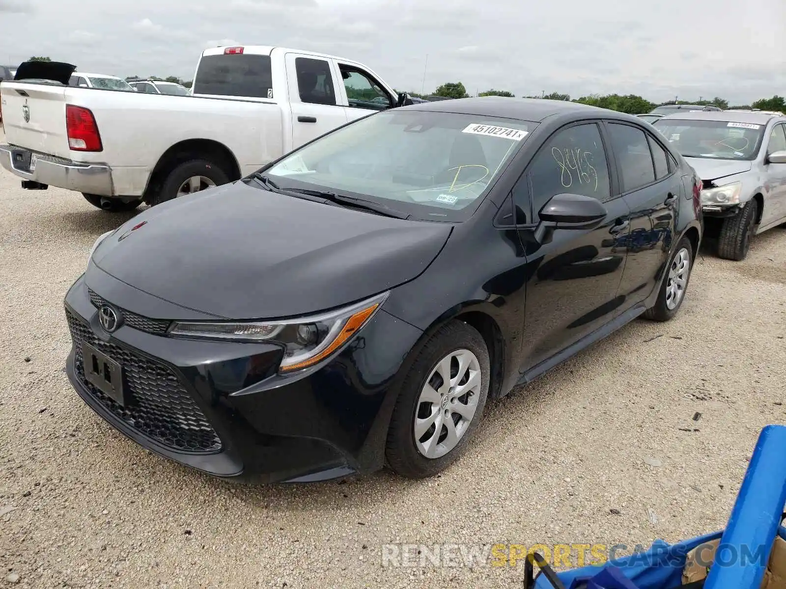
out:
M517 224L531 278L524 313L522 371L552 357L620 313L617 292L625 268L630 211L612 198L615 179L600 123L556 131L538 150L513 189ZM555 229L534 239L538 211L560 193L592 196L607 216L595 229ZM522 226L523 221L523 226Z

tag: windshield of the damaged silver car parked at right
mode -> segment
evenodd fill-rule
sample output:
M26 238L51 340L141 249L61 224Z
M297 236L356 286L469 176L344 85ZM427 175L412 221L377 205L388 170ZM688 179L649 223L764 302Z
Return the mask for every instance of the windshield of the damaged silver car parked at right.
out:
M755 159L764 125L685 119L652 123L685 157Z

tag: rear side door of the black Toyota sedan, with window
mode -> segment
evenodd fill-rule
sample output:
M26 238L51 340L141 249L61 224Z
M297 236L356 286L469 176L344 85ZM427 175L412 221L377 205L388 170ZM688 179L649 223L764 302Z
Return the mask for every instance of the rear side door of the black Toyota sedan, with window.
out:
M652 294L674 239L682 177L654 134L640 126L608 121L608 145L617 166L619 192L630 208L627 261L619 294L634 305Z

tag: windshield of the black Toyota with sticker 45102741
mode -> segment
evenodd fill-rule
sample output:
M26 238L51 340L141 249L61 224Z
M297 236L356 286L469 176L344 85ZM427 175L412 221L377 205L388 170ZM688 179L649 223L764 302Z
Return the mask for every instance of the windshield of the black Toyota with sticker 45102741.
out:
M468 218L536 123L390 111L322 137L266 170L281 188L351 193L430 221Z

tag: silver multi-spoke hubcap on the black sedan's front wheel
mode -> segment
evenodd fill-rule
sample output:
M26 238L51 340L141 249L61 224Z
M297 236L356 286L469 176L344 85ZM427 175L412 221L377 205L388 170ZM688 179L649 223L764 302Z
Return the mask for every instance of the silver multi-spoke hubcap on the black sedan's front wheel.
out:
M456 447L475 416L480 385L480 363L468 349L439 360L415 406L418 452L439 458Z

